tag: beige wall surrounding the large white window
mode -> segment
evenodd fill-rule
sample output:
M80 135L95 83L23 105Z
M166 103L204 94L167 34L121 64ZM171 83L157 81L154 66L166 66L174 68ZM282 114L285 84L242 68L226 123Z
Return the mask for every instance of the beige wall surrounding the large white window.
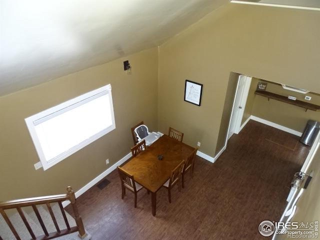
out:
M129 60L132 74L123 71ZM130 151L130 127L140 120L157 129L157 48L69 74L0 97L0 200L79 189ZM24 118L111 83L116 129L53 167L35 170L39 161ZM147 89L147 90L146 90Z

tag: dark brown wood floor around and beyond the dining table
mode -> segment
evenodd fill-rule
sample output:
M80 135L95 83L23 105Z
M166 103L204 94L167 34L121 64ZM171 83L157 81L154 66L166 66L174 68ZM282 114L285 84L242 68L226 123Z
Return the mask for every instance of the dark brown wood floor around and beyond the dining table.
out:
M133 193L121 200L116 171L106 177L111 183L92 187L77 205L93 240L265 239L258 224L280 218L290 180L308 151L298 137L250 120L215 163L197 156L194 177L186 177L181 192L173 189L171 204L166 189L158 191L155 217L144 189L137 208Z

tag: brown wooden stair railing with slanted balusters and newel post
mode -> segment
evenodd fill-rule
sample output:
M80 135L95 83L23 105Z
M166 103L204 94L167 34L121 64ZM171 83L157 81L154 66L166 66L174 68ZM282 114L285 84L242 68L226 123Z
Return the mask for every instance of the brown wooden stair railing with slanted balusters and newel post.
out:
M76 226L70 227L69 222L66 218L63 206L62 206L62 201L65 200L69 200L71 205L72 205L72 209L73 209L73 213L75 216L75 223ZM54 213L52 211L51 205L50 203L58 203L62 217L64 219L65 225L66 225L66 229L59 229L59 226L57 224L56 218L54 216ZM48 233L44 222L41 218L41 215L36 207L36 205L40 205L40 204L45 204L48 208L49 214L51 216L51 219L53 221L53 224L55 226L56 231L55 232L51 232ZM26 206L31 206L39 223L40 226L44 232L44 235L41 236L35 236L30 224L28 223L27 219L24 216L24 213L21 209L21 207L26 207ZM31 197L31 198L24 198L24 199L17 199L17 200L10 200L10 201L2 201L0 202L0 213L3 216L3 219L5 220L6 224L8 225L8 227L10 228L10 230L12 231L13 235L15 236L15 238L17 240L21 240L20 236L18 235L17 231L15 230L12 222L10 221L9 217L7 216L7 214L5 213L5 209L16 209L17 212L19 213L25 227L27 228L27 230L29 231L32 239L37 240L37 239L52 239L55 237L59 237L62 235L66 235L72 232L79 232L79 237L81 239L83 239L87 234L84 230L84 226L83 226L83 222L81 219L81 216L79 215L79 212L77 210L76 204L75 204L75 195L74 195L74 191L72 190L72 188L70 186L68 186L66 188L66 194L60 194L60 195L51 195L51 196L40 196L40 197ZM1 236L0 236L0 240L2 240Z

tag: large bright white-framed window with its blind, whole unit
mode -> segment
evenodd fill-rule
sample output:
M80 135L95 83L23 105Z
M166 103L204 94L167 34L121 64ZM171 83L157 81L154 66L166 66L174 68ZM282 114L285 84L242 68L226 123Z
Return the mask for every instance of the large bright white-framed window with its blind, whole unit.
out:
M25 118L43 169L115 129L111 85Z

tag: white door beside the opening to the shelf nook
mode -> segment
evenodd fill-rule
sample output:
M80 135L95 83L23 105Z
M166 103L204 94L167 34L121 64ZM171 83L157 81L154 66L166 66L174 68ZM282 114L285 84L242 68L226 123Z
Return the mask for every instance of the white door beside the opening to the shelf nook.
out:
M238 134L241 127L241 121L244 113L246 99L248 97L249 88L252 77L239 75L236 87L235 97L233 101L231 119L229 123L228 139L233 133Z

